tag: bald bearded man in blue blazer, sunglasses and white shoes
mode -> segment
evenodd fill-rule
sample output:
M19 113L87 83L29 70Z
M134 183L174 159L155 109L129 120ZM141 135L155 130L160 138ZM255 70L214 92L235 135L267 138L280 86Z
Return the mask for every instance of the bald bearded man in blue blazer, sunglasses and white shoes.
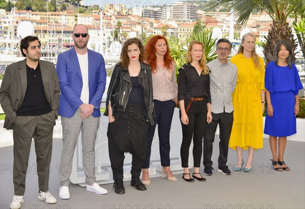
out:
M59 198L69 199L72 161L79 132L82 132L82 161L87 191L107 194L96 183L95 139L100 122L100 105L106 85L102 54L87 49L88 28L73 29L75 47L58 55L57 74L61 89L59 115L62 116L63 151L60 159Z

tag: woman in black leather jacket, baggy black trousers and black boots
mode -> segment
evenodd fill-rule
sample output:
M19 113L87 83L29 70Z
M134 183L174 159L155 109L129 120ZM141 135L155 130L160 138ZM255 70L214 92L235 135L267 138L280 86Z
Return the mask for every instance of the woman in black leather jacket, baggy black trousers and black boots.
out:
M132 154L131 186L146 190L139 176L146 158L148 127L154 125L154 105L151 71L142 62L144 55L139 39L127 40L108 88L104 115L109 116L108 148L116 194L125 194L124 152Z

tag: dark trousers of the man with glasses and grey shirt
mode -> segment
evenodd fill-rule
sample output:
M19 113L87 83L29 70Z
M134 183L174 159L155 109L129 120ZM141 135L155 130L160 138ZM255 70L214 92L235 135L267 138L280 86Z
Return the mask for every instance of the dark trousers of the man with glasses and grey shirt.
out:
M217 125L219 124L219 157L218 167L223 167L228 159L229 139L233 124L233 111L231 113L223 112L219 114L212 113L212 122L206 125L206 131L203 137L203 165L212 167L213 142Z

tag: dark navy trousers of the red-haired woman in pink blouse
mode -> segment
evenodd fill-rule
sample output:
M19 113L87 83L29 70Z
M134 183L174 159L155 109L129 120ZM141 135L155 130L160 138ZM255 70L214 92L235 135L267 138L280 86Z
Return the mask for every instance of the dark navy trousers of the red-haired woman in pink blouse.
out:
M155 126L149 126L148 129L148 146L146 160L143 168L149 168L150 154L151 154L151 143L155 135L156 125L158 124L158 136L159 136L159 149L160 149L160 159L161 166L170 165L170 143L169 143L169 132L171 127L171 122L173 118L175 102L172 100L159 101L154 100L155 106Z

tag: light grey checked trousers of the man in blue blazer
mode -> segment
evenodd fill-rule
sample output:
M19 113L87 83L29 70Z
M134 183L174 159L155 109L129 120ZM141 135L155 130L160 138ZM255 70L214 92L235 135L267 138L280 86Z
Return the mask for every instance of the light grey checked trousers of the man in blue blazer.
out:
M80 109L71 117L62 117L63 151L60 159L60 186L69 186L72 161L78 135L82 133L82 163L85 182L88 185L96 182L95 177L95 140L100 125L100 117L80 118Z

